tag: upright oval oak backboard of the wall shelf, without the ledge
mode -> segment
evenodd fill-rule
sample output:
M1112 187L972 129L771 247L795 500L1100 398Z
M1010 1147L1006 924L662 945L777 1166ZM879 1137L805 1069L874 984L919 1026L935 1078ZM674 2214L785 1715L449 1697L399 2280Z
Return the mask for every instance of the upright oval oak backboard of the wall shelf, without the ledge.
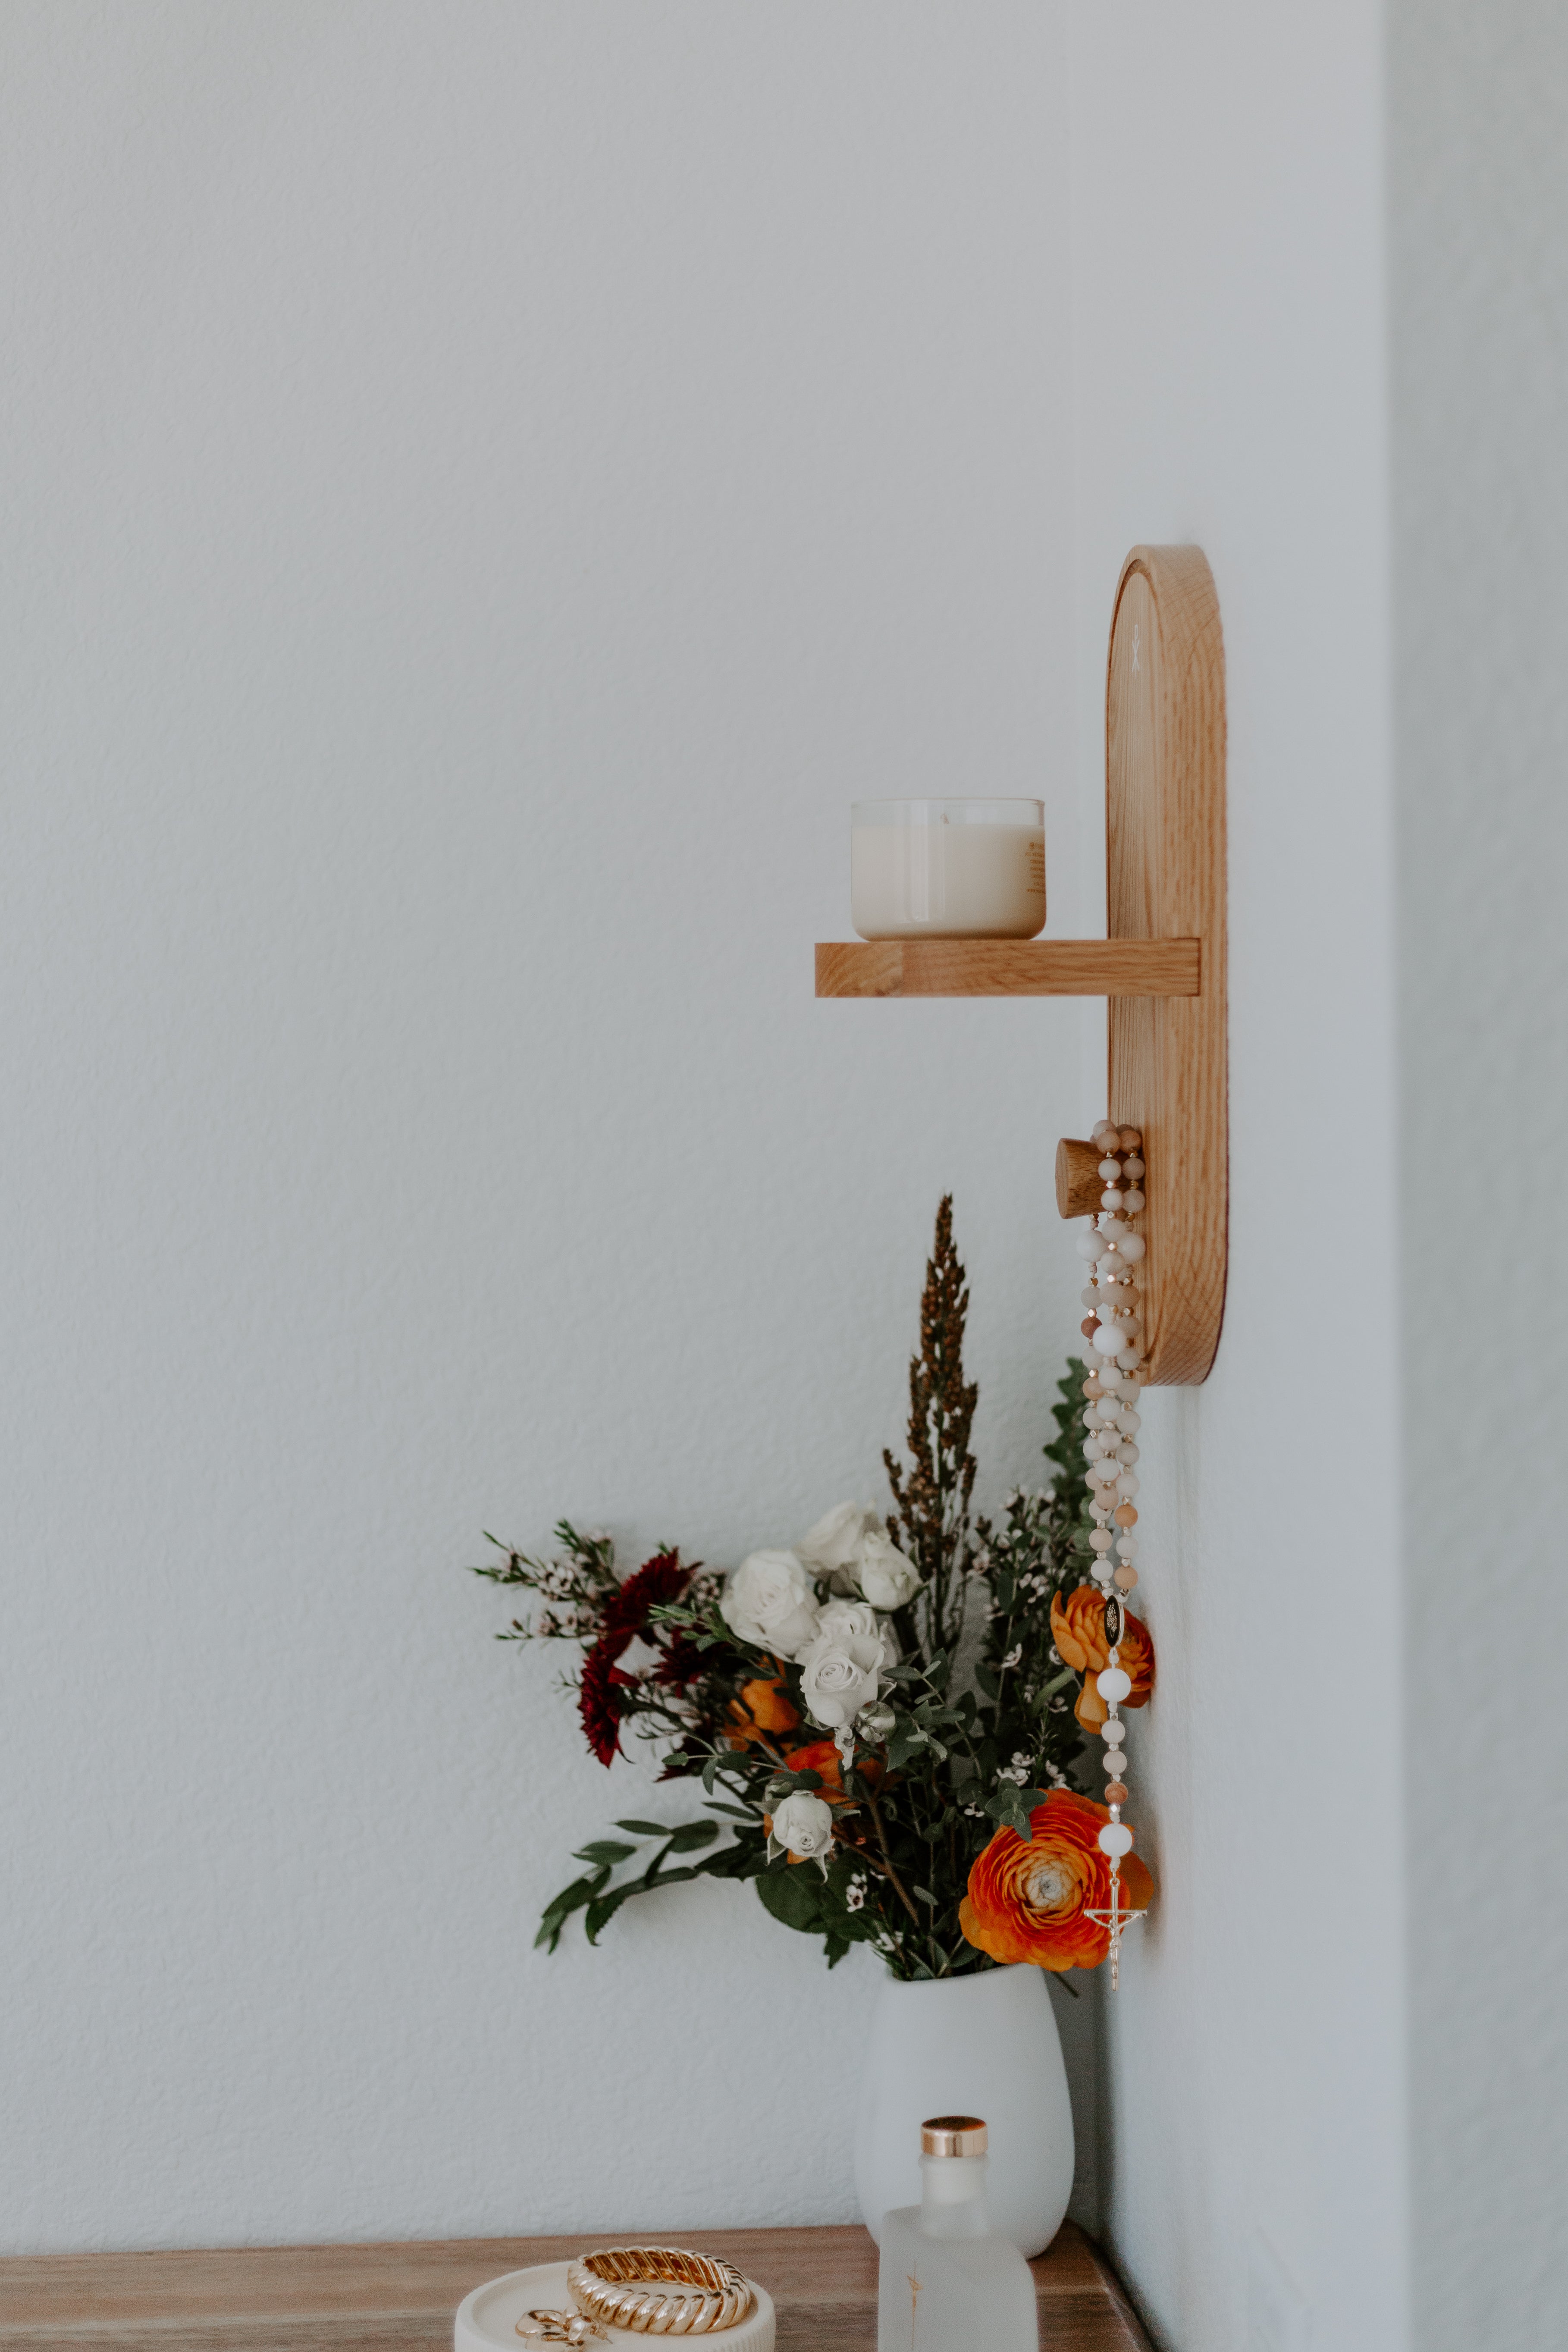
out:
M1105 670L1112 941L1199 938L1194 997L1110 1000L1110 1117L1145 1138L1150 1381L1208 1378L1225 1315L1225 642L1201 548L1133 548ZM1067 1211L1072 1214L1072 1211Z

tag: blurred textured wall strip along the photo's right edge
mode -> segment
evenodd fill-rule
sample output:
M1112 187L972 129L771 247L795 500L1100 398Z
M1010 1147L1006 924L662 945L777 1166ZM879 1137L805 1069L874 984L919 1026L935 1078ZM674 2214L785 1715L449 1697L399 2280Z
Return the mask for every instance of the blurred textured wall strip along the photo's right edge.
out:
M1537 2352L1568 2343L1568 16L1394 0L1389 101L1415 2317L1422 2352Z

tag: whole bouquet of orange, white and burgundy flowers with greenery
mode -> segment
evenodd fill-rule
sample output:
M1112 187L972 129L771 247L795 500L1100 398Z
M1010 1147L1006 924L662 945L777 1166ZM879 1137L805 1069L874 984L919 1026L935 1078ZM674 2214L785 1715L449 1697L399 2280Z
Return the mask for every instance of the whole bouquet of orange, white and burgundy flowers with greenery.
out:
M1006 1519L971 1519L964 1381L969 1282L952 1200L910 1364L910 1463L884 1454L886 1519L839 1503L792 1545L729 1576L665 1545L630 1576L604 1534L557 1526L548 1559L498 1545L475 1573L536 1597L501 1639L571 1642L569 1679L592 1755L651 1743L661 1780L701 1788L696 1818L618 1820L578 1846L583 1875L538 1929L555 1950L574 1912L588 1940L623 1903L689 1879L750 1879L764 1907L820 1936L827 1964L867 1943L898 1978L966 1976L1006 1962L1091 1969L1105 1959L1110 1820L1077 1788L1084 1738L1105 1722L1105 1609L1086 1581L1084 1367L1067 1364L1056 1465ZM496 1541L496 1538L487 1538ZM1124 1705L1154 1686L1147 1630L1126 1616ZM1121 1860L1140 1910L1145 1865Z

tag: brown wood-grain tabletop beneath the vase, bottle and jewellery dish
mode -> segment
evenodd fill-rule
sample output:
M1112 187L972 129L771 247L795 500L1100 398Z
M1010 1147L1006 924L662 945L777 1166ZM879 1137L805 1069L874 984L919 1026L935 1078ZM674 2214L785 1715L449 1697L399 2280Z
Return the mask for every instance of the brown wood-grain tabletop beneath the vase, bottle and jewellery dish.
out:
M875 2352L865 2230L595 2230L585 2237L0 2260L0 2352L449 2352L475 2286L604 2244L698 2244L759 2279L778 2352ZM1030 2265L1044 2352L1147 2352L1098 2249L1067 2223Z

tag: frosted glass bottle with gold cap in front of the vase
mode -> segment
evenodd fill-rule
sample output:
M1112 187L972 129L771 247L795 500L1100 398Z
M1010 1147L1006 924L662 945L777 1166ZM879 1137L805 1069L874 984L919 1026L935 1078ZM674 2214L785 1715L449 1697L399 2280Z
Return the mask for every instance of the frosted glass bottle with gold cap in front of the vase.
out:
M1037 2352L1034 2279L985 2218L985 2124L919 2126L922 2201L882 2223L877 2352Z

